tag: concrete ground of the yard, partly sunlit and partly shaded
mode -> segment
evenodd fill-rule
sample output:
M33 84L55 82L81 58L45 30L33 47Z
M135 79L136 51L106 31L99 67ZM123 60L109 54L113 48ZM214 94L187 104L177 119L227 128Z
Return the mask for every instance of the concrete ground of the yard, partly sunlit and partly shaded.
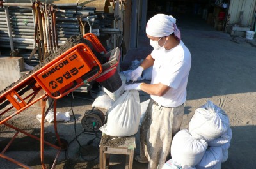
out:
M173 16L175 17L175 15ZM189 121L196 108L211 100L227 113L232 128L232 142L228 160L222 164L223 169L251 169L256 161L256 42L245 37L232 37L223 31L216 31L198 17L176 17L177 26L182 33L182 41L191 51L192 66L188 81L188 96L185 107L182 129L188 128ZM129 50L127 57L120 63L125 70L134 59L144 59L150 54L145 33L140 33L139 47ZM148 95L140 92L140 101L148 99ZM70 122L58 122L58 133L70 145L67 151L62 151L56 168L99 168L97 146L100 136L83 133L81 119L86 110L92 109L93 98L89 94L74 93L57 101L57 110L70 112ZM73 113L74 112L74 115ZM29 108L24 113L13 117L10 124L39 136L40 122L36 115L40 108ZM76 120L74 120L74 118ZM14 135L12 129L0 126L0 151ZM54 143L52 123L45 122L45 140ZM87 146L93 140L93 146ZM138 140L136 140L138 143ZM6 155L25 163L32 168L42 168L40 163L40 144L27 136L19 135L11 145ZM138 148L138 144L137 144ZM86 154L87 153L87 154ZM136 149L135 154L138 154ZM51 166L56 150L45 146L44 162L47 168ZM95 159L94 159L95 158ZM91 161L92 160L92 161ZM112 169L124 168L125 156L111 155ZM20 168L19 166L0 158L0 168ZM147 164L134 161L134 169L146 169Z

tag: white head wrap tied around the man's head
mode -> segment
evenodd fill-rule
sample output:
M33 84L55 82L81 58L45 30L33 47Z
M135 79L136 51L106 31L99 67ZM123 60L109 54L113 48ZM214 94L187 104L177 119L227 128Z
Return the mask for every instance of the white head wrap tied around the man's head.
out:
M180 30L177 28L176 19L172 15L154 15L148 20L146 33L154 37L164 37L174 33L180 40Z

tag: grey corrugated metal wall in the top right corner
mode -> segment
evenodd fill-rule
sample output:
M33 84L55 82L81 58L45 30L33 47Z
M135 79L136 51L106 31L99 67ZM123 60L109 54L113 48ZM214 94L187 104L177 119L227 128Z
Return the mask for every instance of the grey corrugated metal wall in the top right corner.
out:
M256 0L231 0L228 13L230 13L230 24L251 26L255 13ZM243 12L243 15L241 15ZM241 16L241 20L240 20Z

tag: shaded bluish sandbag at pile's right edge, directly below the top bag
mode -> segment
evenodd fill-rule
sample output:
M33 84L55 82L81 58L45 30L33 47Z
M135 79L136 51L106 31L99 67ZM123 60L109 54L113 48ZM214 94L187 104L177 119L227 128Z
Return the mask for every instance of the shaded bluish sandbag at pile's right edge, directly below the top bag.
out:
M228 128L227 132L218 138L211 140L208 142L209 146L213 147L221 147L223 150L227 150L230 147L230 142L232 139L232 129Z

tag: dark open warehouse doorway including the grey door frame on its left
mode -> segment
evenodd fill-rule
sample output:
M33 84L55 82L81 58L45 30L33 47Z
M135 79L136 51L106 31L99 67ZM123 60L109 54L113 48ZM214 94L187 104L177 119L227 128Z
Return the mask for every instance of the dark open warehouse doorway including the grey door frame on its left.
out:
M207 27L227 32L229 0L142 0L132 1L131 40L129 48L139 46L138 35L145 31L148 19L157 13L172 15L177 19L177 26ZM201 29L202 29L201 28Z

